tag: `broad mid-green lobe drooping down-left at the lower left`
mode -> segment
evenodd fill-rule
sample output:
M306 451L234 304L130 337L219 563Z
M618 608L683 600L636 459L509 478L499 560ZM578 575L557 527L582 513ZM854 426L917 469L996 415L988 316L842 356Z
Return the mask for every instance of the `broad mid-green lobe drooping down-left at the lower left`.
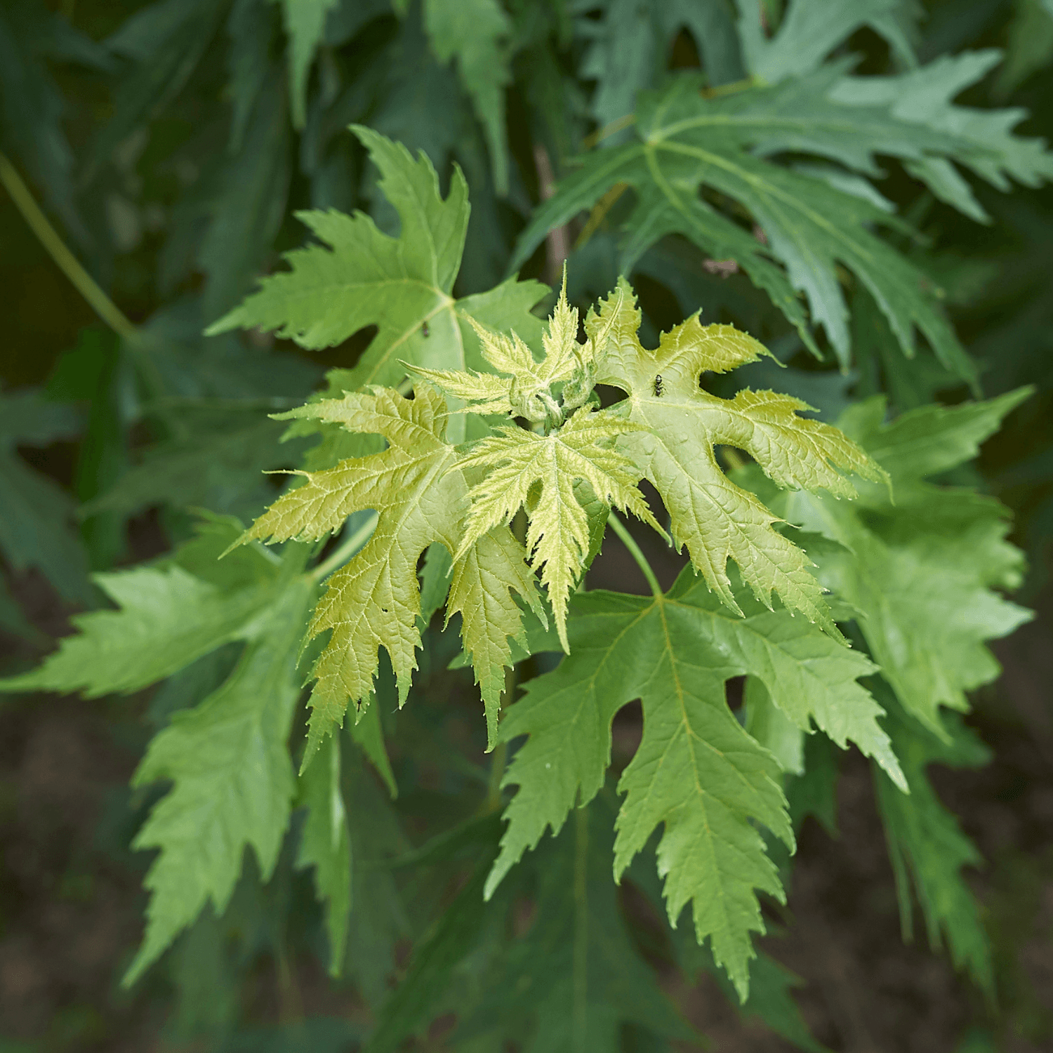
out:
M286 740L300 696L296 656L314 595L290 583L257 622L229 679L150 743L133 779L171 780L136 835L136 849L160 849L146 874L146 934L124 975L134 984L211 900L226 909L252 846L264 881L278 860L296 777Z

